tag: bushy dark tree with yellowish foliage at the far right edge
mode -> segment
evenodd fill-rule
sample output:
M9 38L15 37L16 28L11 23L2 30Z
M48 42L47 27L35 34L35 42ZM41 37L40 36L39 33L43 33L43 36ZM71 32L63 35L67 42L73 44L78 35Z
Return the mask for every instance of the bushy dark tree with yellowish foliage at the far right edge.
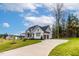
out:
M78 36L78 18L73 14L70 14L67 19L67 37L77 37Z

